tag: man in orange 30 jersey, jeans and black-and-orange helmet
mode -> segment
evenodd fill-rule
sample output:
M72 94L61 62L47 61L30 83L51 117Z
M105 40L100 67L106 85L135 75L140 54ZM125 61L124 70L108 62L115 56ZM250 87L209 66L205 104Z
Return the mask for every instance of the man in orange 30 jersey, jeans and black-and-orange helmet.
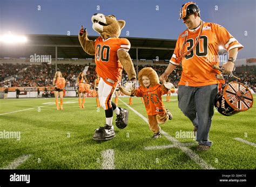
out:
M179 108L197 131L197 150L208 150L212 145L208 133L218 92L217 76L220 75L220 71L212 66L219 66L218 49L223 46L229 53L228 62L223 65L223 74L230 74L238 50L243 46L224 27L201 20L200 10L193 2L182 6L180 19L183 19L187 30L179 35L169 66L160 80L166 80L173 69L182 63L183 71L178 84Z

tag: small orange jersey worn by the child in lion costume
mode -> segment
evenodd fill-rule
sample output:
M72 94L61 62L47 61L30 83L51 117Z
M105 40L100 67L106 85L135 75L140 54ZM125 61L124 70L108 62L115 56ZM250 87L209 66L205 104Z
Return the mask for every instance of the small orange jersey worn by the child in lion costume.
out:
M147 115L154 116L165 112L162 95L165 95L167 92L168 90L163 90L161 84L157 84L149 88L140 86L134 93L137 97L143 97Z

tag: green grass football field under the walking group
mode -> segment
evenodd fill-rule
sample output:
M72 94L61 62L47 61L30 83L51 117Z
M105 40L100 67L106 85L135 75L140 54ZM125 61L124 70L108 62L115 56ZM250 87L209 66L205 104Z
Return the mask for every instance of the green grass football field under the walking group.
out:
M68 103L63 111L56 110L52 98L1 99L0 132L21 132L21 139L0 139L0 168L29 155L17 169L102 169L105 163L115 169L256 169L255 105L232 117L215 111L210 130L213 146L208 152L198 152L193 138L176 136L176 132L193 131L178 108L177 97L165 102L173 119L161 125L165 135L159 139L152 139L146 122L124 104L129 98L120 99L119 107L129 110L129 125L123 130L115 126L116 138L104 142L92 139L94 130L105 123L105 112L102 108L97 112L95 98L86 98L84 109L78 108L77 98L64 98ZM147 117L140 98L133 98L131 107ZM105 157L108 149L112 155Z

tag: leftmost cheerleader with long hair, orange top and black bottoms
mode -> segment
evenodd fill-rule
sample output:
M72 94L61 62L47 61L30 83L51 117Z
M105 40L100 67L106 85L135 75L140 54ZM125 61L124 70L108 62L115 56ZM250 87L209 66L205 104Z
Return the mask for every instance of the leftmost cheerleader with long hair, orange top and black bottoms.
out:
M62 77L62 73L60 71L56 71L53 78L53 87L55 87L54 96L57 110L63 110L63 89L65 87L65 83L66 81L65 78ZM58 96L60 98L60 107L58 104Z

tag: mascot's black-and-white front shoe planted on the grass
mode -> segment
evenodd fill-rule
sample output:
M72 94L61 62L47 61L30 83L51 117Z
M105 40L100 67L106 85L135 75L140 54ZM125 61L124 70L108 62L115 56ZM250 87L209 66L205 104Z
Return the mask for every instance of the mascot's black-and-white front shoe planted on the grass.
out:
M116 136L116 133L114 133L113 125L109 126L105 124L104 127L99 127L95 130L93 140L110 140L114 136Z

